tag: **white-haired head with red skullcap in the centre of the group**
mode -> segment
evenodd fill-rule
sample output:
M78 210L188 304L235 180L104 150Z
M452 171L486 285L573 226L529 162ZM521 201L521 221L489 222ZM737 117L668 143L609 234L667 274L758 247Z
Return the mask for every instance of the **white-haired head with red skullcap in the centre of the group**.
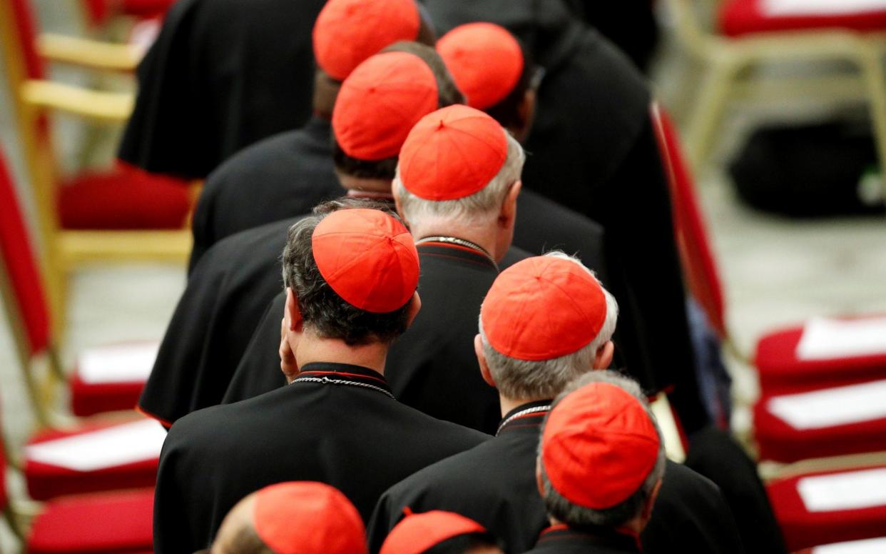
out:
M524 160L523 148L492 117L450 105L409 131L392 188L411 224L483 224L499 214Z

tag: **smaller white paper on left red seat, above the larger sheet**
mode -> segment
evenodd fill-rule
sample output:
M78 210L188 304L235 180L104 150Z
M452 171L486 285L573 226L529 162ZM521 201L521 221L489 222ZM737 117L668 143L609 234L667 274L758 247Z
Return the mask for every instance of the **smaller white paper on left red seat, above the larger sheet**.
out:
M89 384L144 381L151 374L158 350L159 342L89 348L80 355L77 369Z

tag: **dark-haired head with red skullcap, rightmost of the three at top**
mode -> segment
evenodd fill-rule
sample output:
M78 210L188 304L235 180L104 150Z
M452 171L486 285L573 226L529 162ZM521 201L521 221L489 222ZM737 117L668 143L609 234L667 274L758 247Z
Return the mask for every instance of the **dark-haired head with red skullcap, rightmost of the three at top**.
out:
M440 37L437 51L470 107L489 113L513 132L531 121L526 92L537 85L536 69L523 45L507 29L475 22Z

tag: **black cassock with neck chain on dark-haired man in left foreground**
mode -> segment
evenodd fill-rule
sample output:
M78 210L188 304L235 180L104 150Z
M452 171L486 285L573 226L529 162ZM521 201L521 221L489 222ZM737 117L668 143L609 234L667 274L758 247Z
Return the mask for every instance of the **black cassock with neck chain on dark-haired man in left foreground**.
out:
M160 454L154 551L206 548L235 503L287 480L328 483L369 519L393 483L488 438L397 402L376 371L309 363L289 386L173 425Z

